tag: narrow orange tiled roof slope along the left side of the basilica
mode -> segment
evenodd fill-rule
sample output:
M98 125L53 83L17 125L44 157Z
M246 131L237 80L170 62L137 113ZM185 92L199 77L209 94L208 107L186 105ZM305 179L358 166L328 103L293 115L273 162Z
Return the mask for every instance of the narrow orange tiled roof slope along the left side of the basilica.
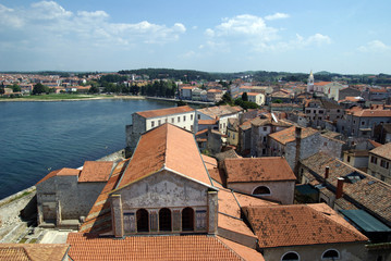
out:
M117 186L123 171L125 170L130 160L118 163L112 171L112 174L95 201L93 208L80 228L80 232L102 234L111 231L111 208L109 201L109 192Z

